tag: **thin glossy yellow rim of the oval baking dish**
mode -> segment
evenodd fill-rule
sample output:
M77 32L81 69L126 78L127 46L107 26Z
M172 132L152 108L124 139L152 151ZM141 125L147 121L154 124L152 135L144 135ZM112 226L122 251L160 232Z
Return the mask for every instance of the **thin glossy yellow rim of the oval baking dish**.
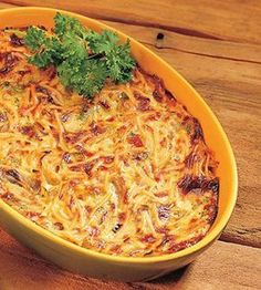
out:
M185 248L185 249L177 251L177 252L174 252L174 253L164 253L164 255L160 255L160 256L153 256L153 257L112 256L109 253L98 252L98 251L95 251L95 250L92 250L92 249L83 248L81 246L77 246L77 245L75 245L71 241L67 241L67 240L56 236L55 234L52 234L48 229L44 229L41 226L33 222L32 220L25 218L24 216L19 214L15 209L13 209L11 206L9 206L7 203L4 203L1 198L0 198L0 210L2 209L7 214L10 214L11 217L13 219L15 219L15 221L18 224L20 224L20 225L24 226L25 228L32 230L33 232L35 232L40 237L46 238L48 240L50 240L50 242L56 244L58 246L62 246L62 247L66 248L67 250L75 251L79 255L83 255L83 256L86 256L86 257L88 256L88 257L92 257L92 258L97 258L97 259L102 259L102 260L105 260L105 261L117 262L117 263L144 265L144 263L166 262L166 261L169 261L169 260L175 260L175 259L178 259L178 258L181 258L181 257L185 257L185 256L192 255L192 253L199 251L200 249L206 248L208 245L211 245L211 242L213 242L219 237L221 231L225 229L225 227L227 226L227 224L228 224L228 221L231 217L231 214L233 211L233 208L234 208L234 205L236 205L236 201L237 201L237 196L238 196L238 172L237 172L237 164L236 164L236 159L234 159L234 154L232 152L232 147L231 147L230 142L227 137L227 134L225 133L225 131L223 131L220 122L216 117L215 113L209 107L209 105L205 102L205 100L200 96L200 94L192 87L192 85L190 85L186 81L186 79L178 71L176 71L170 64L168 64L166 61L164 61L155 52L153 52L147 46L145 46L140 42L136 41L132 37L127 35L127 34L125 34L125 33L118 31L117 29L114 29L114 28L112 28L107 24L104 24L100 20L95 20L95 19L88 18L88 17L85 17L85 15L82 15L82 14L79 14L79 13L75 13L75 12L62 10L62 9L33 7L33 6L32 7L19 7L19 8L2 9L2 10L0 10L0 17L1 17L1 14L4 14L4 13L14 13L15 14L18 12L23 12L23 11L61 12L61 13L77 18L80 20L85 19L85 21L87 20L87 22L94 23L95 25L101 27L102 29L108 29L111 31L115 31L121 38L128 38L130 40L130 44L134 43L134 45L138 46L138 49L142 48L142 50L144 50L145 52L150 53L153 55L153 58L155 59L155 62L164 64L167 70L171 71L171 73L176 75L178 82L181 82L185 86L187 86L191 91L191 94L194 94L199 100L200 105L203 106L205 110L208 111L208 114L210 115L210 117L215 122L215 125L216 125L216 127L219 132L218 134L220 134L222 139L223 139L222 142L225 143L223 145L226 147L226 151L228 152L229 160L230 160L230 164L231 164L231 173L232 173L232 179L230 182L231 183L231 197L228 199L227 210L222 214L218 224L212 225L211 228L209 229L209 231L207 232L207 235L200 241L198 241L194 246L190 246L188 248ZM27 21L30 22L30 20L27 20ZM160 79L164 79L164 77L160 77Z

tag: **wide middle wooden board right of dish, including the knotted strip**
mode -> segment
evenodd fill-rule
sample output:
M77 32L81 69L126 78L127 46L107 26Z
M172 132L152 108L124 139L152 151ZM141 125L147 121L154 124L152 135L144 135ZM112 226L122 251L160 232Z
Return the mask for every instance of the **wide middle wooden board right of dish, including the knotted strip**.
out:
M261 199L257 198L261 187L258 125L261 115L261 45L192 38L114 21L106 23L139 40L169 62L218 115L234 148L240 179L237 207L221 239L261 247L261 228L257 226L261 215ZM156 40L159 32L165 35L161 42Z

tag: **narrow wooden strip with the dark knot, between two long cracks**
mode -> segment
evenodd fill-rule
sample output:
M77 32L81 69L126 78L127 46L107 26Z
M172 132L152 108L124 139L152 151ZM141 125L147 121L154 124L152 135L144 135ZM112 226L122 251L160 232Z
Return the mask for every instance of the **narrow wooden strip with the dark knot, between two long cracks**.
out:
M124 24L115 21L103 22L127 33L144 44L158 48L159 52L160 49L170 49L195 55L261 64L261 44L192 38L158 28ZM157 40L159 33L164 38L163 40Z

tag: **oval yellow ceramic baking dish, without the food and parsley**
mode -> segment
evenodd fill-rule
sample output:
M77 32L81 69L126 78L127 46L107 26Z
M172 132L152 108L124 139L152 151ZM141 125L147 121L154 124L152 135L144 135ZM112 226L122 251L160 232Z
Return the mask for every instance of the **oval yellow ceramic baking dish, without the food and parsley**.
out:
M59 10L48 8L15 8L0 11L0 29L6 27L44 25L53 27L53 17ZM94 30L114 30L98 21L66 12ZM114 30L115 31L115 30ZM116 31L122 40L127 35ZM63 240L24 218L0 199L0 225L22 244L54 263L81 275L100 279L144 281L163 276L188 265L206 250L226 227L237 200L238 177L234 156L220 123L199 94L160 58L130 39L132 52L148 72L164 80L166 87L188 111L199 120L208 146L219 160L217 175L220 177L219 210L207 236L195 246L160 257L115 257L81 248Z

